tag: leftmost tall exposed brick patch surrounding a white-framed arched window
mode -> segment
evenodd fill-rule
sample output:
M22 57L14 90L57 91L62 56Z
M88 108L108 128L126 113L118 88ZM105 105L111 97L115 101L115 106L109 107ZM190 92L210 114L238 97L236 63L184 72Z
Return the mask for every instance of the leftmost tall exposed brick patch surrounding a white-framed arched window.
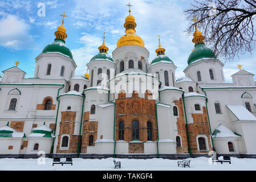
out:
M76 153L78 152L78 135L74 135L75 129L75 118L76 112L74 111L63 111L62 117L59 123L59 136L58 136L58 146L56 149L57 153ZM68 122L67 122L68 121ZM63 134L70 135L70 142L68 146L68 150L60 150L60 140Z

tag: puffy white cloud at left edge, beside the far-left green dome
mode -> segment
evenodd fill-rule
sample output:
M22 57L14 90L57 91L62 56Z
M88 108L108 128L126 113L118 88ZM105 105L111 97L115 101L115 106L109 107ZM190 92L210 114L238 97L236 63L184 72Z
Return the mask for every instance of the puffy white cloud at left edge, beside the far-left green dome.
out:
M30 26L16 15L5 14L0 19L0 46L13 49L34 48Z

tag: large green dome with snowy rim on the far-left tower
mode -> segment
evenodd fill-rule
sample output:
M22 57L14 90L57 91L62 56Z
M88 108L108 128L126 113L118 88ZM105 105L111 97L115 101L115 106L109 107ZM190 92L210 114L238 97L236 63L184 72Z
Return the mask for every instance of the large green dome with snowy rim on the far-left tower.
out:
M53 43L44 47L42 53L59 52L73 59L70 49L65 45L64 40L55 39Z

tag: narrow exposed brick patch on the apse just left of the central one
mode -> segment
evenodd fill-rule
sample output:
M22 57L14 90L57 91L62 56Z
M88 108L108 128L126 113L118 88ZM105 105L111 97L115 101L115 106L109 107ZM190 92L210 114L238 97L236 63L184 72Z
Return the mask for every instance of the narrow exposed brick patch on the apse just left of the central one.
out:
M88 112L89 113L89 112ZM84 113L84 115L86 115ZM88 115L88 114L87 114ZM88 117L86 115L86 117ZM89 144L89 137L92 135L94 136L94 141L97 139L97 121L89 121L89 118L87 118L88 121L83 123L83 133L82 133L82 147L81 147L81 153L87 152L87 146ZM101 135L103 138L103 135ZM93 144L95 146L95 143Z

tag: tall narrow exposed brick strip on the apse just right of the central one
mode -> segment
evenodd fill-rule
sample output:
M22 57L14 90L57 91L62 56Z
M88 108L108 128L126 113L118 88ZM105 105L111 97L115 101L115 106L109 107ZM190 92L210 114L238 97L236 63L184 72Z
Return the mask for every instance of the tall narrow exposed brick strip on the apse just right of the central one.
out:
M181 153L187 154L189 152L188 139L186 135L186 122L184 118L184 108L183 108L182 98L180 98L180 100L176 100L173 102L178 107L177 130L178 130L178 135L181 137L181 145L182 145L182 147L177 147L176 151L178 154L181 154Z

